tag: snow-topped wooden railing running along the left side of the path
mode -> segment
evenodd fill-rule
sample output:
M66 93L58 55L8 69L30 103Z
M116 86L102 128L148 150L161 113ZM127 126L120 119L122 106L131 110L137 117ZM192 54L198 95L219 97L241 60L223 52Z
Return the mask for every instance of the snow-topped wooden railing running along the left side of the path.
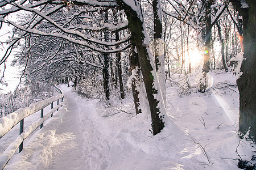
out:
M20 108L17 111L0 118L0 139L11 129L13 129L15 125L18 123L20 124L19 136L9 145L9 147L7 147L3 154L0 155L0 169L5 168L5 165L9 162L18 148L19 152L22 151L24 139L33 133L39 126L42 128L43 122L46 121L48 117L52 117L53 112L58 111L59 108L63 105L64 94L59 88L56 86L54 87L56 91L60 93L59 95L53 96L43 101L39 101L37 103L33 103L28 108ZM61 100L61 103L59 103L59 100ZM53 102L55 101L57 101L57 105L53 108ZM49 111L47 114L44 114L44 108L46 108L49 104L51 104L51 111ZM24 118L40 110L41 114L39 120L24 130Z

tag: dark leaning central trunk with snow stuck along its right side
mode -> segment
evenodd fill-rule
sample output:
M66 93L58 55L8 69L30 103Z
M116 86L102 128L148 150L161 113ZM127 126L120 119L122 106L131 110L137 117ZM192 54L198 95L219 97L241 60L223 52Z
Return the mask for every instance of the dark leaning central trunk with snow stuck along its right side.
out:
M159 85L157 81L154 82L154 79L157 79L153 75L153 67L151 65L151 54L150 46L149 44L144 44L144 41L147 42L144 32L144 25L143 25L143 15L137 14L136 11L134 11L130 6L126 5L123 1L117 0L119 5L126 10L127 19L129 20L129 28L132 35L132 40L137 48L138 51L138 57L139 57L139 65L141 66L141 71L143 75L143 82L146 88L146 94L147 94L147 100L148 104L150 105L150 113L151 113L151 126L152 126L152 133L153 135L156 135L160 133L160 131L164 128L164 115L165 108L162 108L164 113L160 114L160 108L159 108L159 100L156 99L154 96L155 94L158 94L159 96L162 96L159 89L155 89L155 85ZM141 10L141 9L140 9ZM142 14L142 11L140 11ZM148 45L148 46L147 46ZM156 84L154 84L156 83ZM161 101L163 104L163 101Z

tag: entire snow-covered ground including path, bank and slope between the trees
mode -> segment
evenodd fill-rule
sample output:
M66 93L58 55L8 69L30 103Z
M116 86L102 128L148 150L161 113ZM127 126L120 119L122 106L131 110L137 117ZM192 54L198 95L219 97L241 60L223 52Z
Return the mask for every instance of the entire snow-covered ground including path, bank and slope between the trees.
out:
M237 135L237 88L217 88L236 78L212 76L207 93L194 88L181 97L168 80L167 113L175 124L155 136L150 116L134 115L132 96L100 103L60 86L64 107L24 141L5 169L238 169L238 154L250 160L254 148Z

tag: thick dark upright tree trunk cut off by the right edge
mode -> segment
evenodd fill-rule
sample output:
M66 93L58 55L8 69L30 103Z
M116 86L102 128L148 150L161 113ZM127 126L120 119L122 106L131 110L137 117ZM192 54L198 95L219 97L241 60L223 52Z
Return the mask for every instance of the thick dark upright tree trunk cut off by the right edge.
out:
M240 117L239 131L241 137L249 131L249 137L254 140L256 137L256 1L246 0L248 8L242 8L238 0L230 0L233 6L243 17L243 58L241 71L242 75L237 79L237 86L240 92Z

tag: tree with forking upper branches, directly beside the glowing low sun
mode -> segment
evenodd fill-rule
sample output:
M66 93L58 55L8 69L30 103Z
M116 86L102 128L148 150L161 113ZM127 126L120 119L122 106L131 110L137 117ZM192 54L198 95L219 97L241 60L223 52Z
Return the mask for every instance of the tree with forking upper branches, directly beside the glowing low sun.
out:
M180 20L189 28L197 32L197 39L201 42L204 51L203 76L200 80L199 91L207 89L207 73L210 71L210 37L213 25L216 24L226 8L226 4L215 0L198 1L168 1L174 8L172 11L164 10L167 15ZM182 49L181 49L182 50ZM183 53L183 52L181 52Z

